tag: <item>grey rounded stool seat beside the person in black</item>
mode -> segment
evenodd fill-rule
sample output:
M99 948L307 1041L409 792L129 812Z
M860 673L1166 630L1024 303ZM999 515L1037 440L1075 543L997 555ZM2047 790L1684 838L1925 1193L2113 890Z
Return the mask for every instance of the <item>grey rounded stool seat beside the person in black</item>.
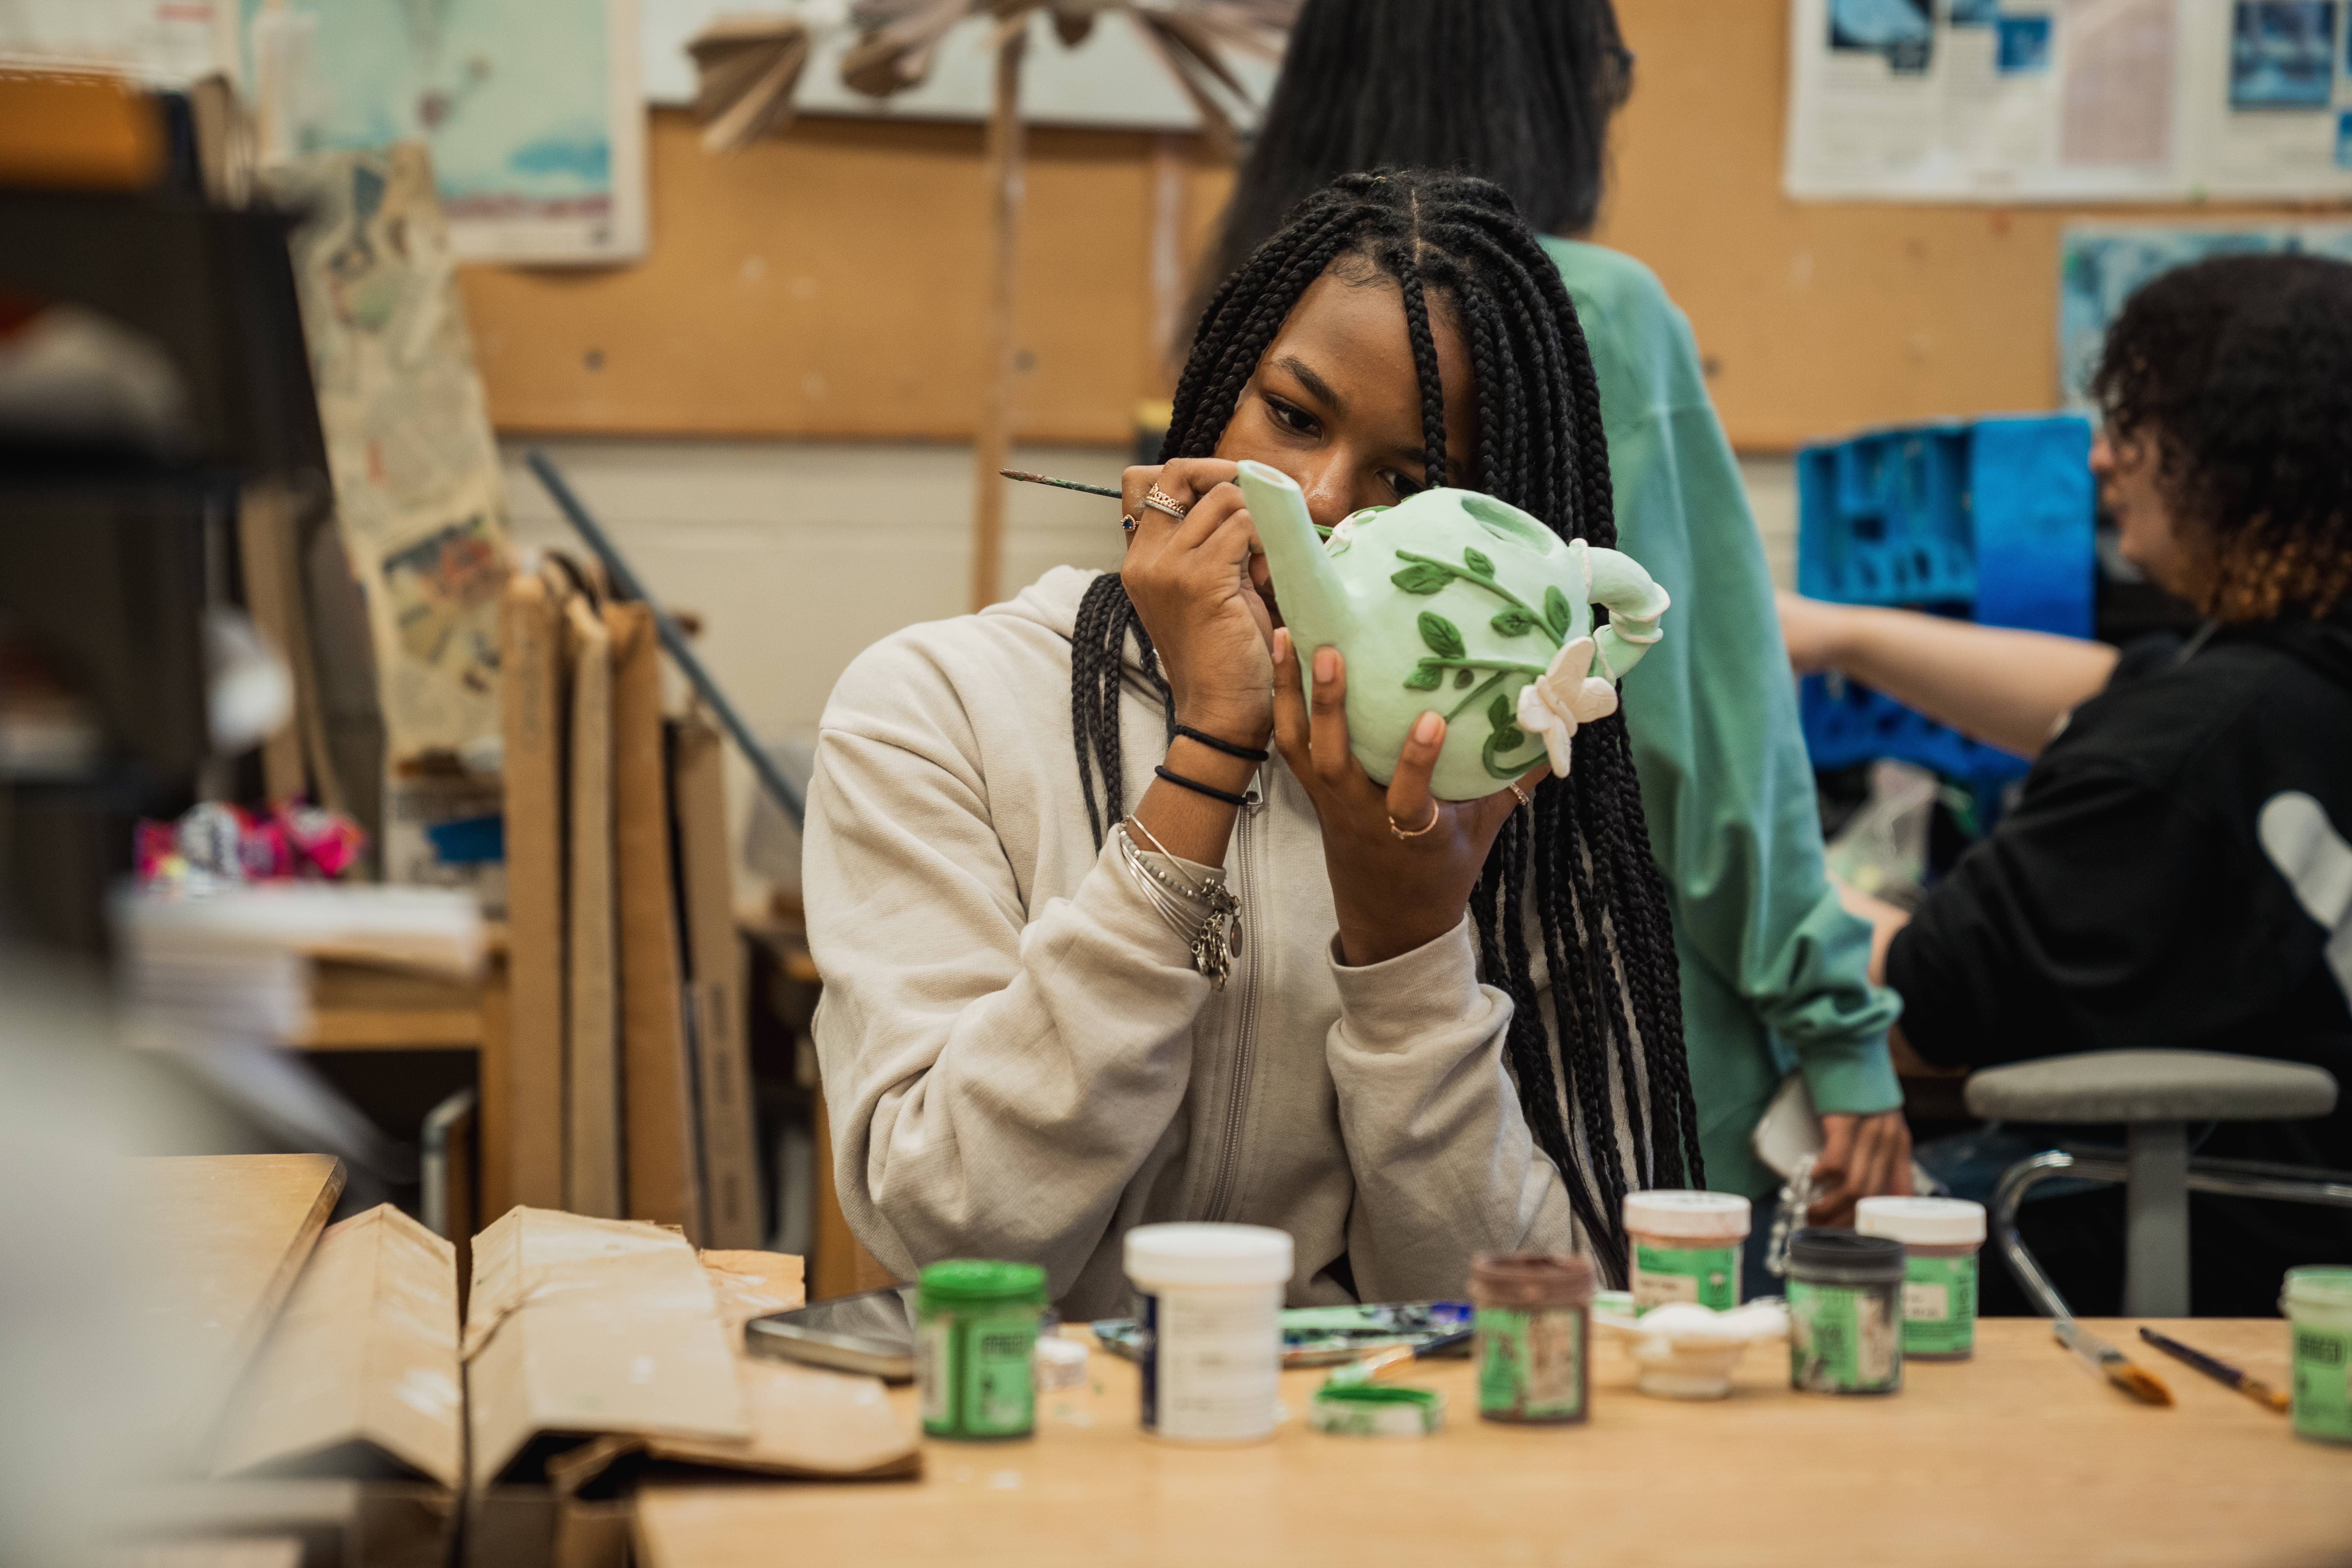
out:
M1969 1110L1992 1121L2298 1121L2336 1110L2336 1079L2220 1051L2082 1051L1985 1067Z

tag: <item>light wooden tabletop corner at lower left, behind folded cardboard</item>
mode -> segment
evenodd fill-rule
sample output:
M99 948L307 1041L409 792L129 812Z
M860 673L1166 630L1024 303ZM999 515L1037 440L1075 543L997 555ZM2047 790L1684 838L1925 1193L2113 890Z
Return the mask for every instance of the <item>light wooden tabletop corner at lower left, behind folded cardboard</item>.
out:
M343 1194L329 1154L136 1159L125 1182L143 1366L162 1378L172 1460L205 1465L228 1392Z

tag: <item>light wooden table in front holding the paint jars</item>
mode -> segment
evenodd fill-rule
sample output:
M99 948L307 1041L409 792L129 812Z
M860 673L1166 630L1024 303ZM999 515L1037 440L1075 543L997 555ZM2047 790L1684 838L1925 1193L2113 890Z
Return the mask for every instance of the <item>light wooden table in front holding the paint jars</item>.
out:
M2201 1319L2178 1338L2284 1387L2286 1324ZM2096 1324L2133 1345L2136 1324ZM1446 1432L1334 1439L1296 1410L1272 1443L1176 1448L1136 1432L1136 1373L1047 1394L1028 1443L924 1443L924 1479L652 1486L649 1568L818 1563L2336 1563L2352 1549L2352 1448L2147 1352L2180 1401L2152 1410L2077 1368L2046 1321L1978 1326L1973 1361L1905 1368L1893 1399L1792 1394L1750 1354L1722 1403L1632 1392L1595 1356L1585 1427L1477 1420L1468 1361L1432 1363ZM913 1420L913 1396L894 1392Z

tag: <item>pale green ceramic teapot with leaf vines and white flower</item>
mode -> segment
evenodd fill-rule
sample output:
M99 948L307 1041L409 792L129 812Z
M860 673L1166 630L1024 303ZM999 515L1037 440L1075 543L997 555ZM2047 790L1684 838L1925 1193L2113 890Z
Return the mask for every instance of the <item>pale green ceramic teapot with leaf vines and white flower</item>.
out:
M1282 621L1301 651L1348 661L1348 743L1376 780L1414 719L1446 717L1439 799L1494 795L1538 762L1569 771L1578 724L1616 712L1616 682L1658 639L1665 590L1618 550L1562 541L1468 489L1425 489L1317 538L1277 468L1242 463ZM1592 604L1609 625L1592 630Z

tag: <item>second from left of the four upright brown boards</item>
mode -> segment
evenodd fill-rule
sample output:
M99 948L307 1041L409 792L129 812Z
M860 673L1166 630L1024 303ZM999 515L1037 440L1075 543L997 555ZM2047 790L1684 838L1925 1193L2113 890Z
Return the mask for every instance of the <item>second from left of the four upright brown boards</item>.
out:
M621 1023L612 865L612 632L588 599L564 607L572 649L572 1006L564 1208L604 1220L621 1192Z

